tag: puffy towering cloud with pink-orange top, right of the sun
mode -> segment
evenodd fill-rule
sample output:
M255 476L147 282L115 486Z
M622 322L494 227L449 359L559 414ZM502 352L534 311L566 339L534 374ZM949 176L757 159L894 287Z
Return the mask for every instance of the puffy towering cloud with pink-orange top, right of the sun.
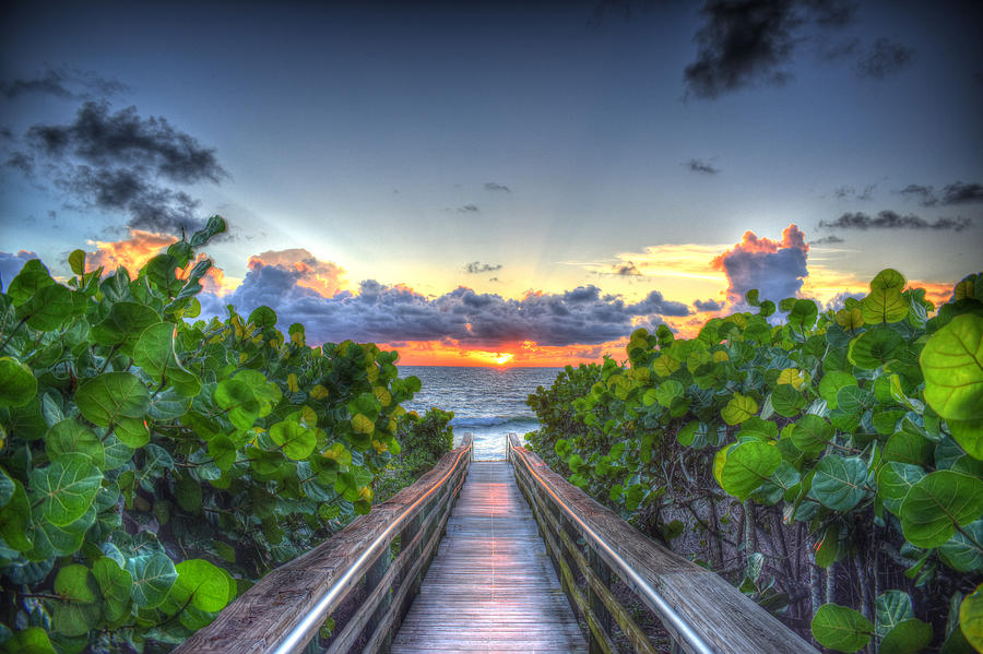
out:
M759 289L762 299L780 300L802 289L809 274L808 251L805 235L789 225L780 241L746 231L739 243L714 258L711 265L726 274L732 304L743 301L751 288Z

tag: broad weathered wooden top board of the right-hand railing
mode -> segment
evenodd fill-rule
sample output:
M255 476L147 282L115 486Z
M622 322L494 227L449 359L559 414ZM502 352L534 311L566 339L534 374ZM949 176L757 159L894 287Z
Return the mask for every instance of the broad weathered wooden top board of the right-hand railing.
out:
M536 488L535 491L545 501L555 501L545 490L545 483L564 504L646 580L711 647L722 654L818 654L808 642L741 594L726 580L647 538L612 510L550 471L543 460L526 451L514 435L510 435L508 447L509 460L513 462L517 475L524 476L524 480L530 487ZM525 467L526 464L529 468ZM602 548L595 549L618 578L629 586L635 586L614 557ZM633 590L649 604L646 596L638 592L638 587ZM649 605L649 608L659 615L658 607ZM663 625L684 651L695 652L678 639L667 621L663 620Z

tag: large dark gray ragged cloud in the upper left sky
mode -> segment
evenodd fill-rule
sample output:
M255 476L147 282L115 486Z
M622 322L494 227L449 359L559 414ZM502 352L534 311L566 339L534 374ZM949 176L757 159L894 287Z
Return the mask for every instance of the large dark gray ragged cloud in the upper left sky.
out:
M15 153L20 158L8 166L42 170L83 204L122 212L129 227L149 231L201 227L198 200L173 186L227 176L213 148L163 118L141 118L135 107L112 114L106 103L84 103L73 122L32 127L26 144L28 152Z

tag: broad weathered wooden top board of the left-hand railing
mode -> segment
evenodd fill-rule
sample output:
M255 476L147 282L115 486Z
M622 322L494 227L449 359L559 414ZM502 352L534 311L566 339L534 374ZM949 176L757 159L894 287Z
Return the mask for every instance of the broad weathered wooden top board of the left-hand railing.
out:
M271 651L310 609L348 571L374 540L390 525L407 524L428 506L422 497L436 495L441 479L453 471L466 467L471 456L471 439L448 454L423 475L415 484L404 488L391 499L372 508L371 513L352 522L331 538L281 566L262 578L256 585L227 606L208 627L197 631L175 650L177 654L249 654ZM448 481L455 474L448 477ZM429 497L428 497L429 499ZM400 520L400 516L402 519ZM330 614L344 599L345 594L362 579L379 555L389 556L389 545L399 534L393 531L386 543L376 548L375 556L363 561L344 592L328 607ZM325 614L327 615L327 614ZM311 630L316 633L317 628Z

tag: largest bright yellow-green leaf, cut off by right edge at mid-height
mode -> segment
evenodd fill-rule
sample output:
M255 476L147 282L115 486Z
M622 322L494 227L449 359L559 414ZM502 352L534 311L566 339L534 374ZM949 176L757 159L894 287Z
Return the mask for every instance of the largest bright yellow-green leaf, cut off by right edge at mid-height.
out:
M951 420L983 418L983 318L971 313L954 318L933 334L919 361L925 400L938 415Z

